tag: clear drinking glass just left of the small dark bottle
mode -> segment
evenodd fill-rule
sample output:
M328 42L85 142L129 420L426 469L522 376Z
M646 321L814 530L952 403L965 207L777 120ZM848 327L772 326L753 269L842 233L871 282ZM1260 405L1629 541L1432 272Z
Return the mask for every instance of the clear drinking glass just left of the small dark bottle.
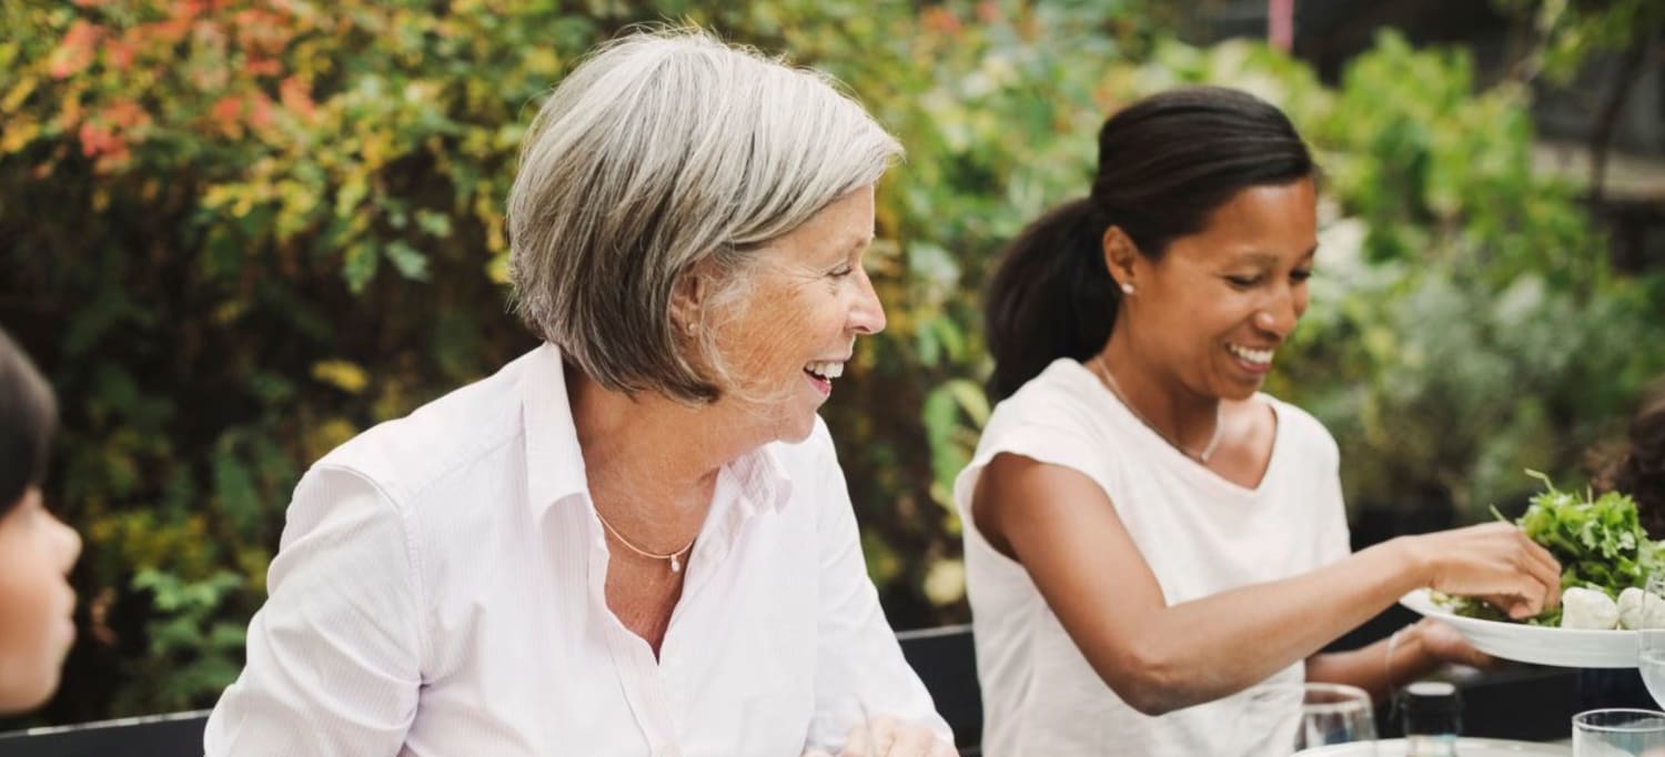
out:
M1345 684L1272 684L1252 689L1240 742L1262 744L1252 754L1289 754L1330 744L1374 744L1375 705L1364 689ZM1374 745L1364 747L1369 755Z

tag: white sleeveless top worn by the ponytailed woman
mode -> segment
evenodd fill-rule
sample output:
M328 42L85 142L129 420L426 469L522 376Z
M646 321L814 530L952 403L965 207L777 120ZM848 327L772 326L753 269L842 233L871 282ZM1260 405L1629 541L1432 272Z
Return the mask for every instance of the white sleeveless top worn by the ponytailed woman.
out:
M1277 436L1257 489L1225 481L1174 449L1072 359L1054 361L994 409L976 458L954 481L982 682L982 754L1289 754L1287 745L1269 744L1279 714L1252 702L1267 684L1304 680L1304 662L1249 690L1144 715L1092 670L1029 572L989 546L971 517L977 476L996 454L1011 453L1097 482L1169 604L1345 557L1347 514L1335 439L1302 409L1260 398L1277 414ZM1254 639L1232 644L1254 654Z

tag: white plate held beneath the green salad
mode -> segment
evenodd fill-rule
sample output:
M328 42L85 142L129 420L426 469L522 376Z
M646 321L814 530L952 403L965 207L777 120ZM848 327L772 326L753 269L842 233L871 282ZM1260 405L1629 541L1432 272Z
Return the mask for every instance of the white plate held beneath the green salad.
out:
M1492 657L1560 667L1637 667L1635 631L1555 629L1462 617L1434 604L1427 589L1399 597L1399 604L1439 617Z

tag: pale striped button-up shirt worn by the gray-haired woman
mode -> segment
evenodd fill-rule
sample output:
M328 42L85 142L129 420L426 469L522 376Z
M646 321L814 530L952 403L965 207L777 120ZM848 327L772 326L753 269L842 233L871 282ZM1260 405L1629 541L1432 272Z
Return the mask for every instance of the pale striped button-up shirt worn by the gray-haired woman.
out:
M320 459L215 755L799 755L861 712L951 739L879 609L826 426L726 466L659 659L608 609L561 358Z

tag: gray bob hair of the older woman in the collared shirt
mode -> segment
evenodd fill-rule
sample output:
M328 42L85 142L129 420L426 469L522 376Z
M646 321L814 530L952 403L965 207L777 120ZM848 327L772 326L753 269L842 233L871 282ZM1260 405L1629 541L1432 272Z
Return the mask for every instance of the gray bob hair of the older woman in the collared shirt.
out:
M528 131L508 201L514 309L609 389L716 401L711 329L673 323L681 278L698 265L713 299L741 298L754 255L901 153L828 75L691 28L613 40Z

